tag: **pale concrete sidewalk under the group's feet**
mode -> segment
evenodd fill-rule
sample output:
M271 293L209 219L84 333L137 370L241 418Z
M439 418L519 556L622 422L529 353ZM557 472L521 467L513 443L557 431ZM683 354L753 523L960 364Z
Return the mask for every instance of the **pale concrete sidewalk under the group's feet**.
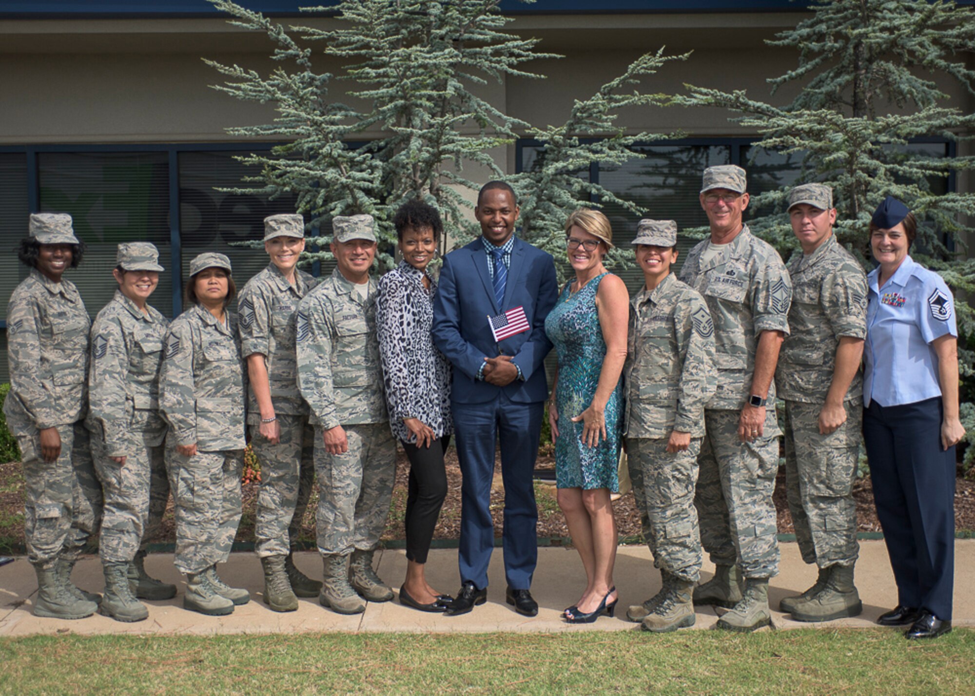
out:
M805 565L794 543L780 544L781 572L770 584L769 600L773 608L779 599L798 594L815 580L815 570ZM399 588L406 573L407 561L403 551L384 551L376 554L378 572L394 588ZM308 575L321 577L321 561L314 552L295 557ZM147 602L149 618L135 624L123 624L107 617L95 616L80 621L42 619L31 614L37 593L37 581L30 565L23 558L0 567L0 636L28 636L33 634L80 635L96 634L268 634L299 632L493 632L493 631L626 631L636 628L625 619L626 608L653 595L660 585L660 575L652 568L645 547L623 546L616 560L615 580L619 588L619 605L615 618L601 617L594 624L568 625L561 619L562 610L574 603L585 585L585 574L579 557L572 549L540 548L538 569L532 583L532 594L540 611L534 618L516 614L504 602L504 567L501 550L491 558L487 604L475 607L464 616L446 617L409 609L396 600L370 603L366 612L357 616L339 616L319 605L317 599L301 599L297 611L276 613L267 608L261 598L263 575L260 563L253 554L234 554L220 566L220 575L231 585L246 587L252 600L238 606L226 617L210 617L185 611L182 608L184 584L173 566L169 554L152 555L146 561L149 571L168 582L175 582L179 592L169 601ZM714 566L705 561L702 581L711 577ZM956 626L975 626L975 598L972 597L972 577L975 572L975 540L956 540L955 620ZM441 592L454 593L459 586L457 552L454 549L431 551L427 563L430 584ZM102 587L101 567L97 558L79 561L74 581L89 591ZM842 619L827 624L802 624L775 613L776 629L818 626L822 628L875 626L880 613L897 603L893 576L887 551L882 541L863 541L860 561L857 562L856 584L863 600L864 612L855 619ZM711 607L699 607L697 623L692 630L711 629L718 620Z

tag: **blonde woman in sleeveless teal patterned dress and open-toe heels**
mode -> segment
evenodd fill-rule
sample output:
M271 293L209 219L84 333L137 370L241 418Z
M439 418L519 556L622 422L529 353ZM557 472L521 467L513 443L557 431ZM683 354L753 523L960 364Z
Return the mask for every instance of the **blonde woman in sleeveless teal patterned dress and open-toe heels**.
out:
M565 237L576 278L545 320L545 332L559 355L549 423L559 507L588 581L578 603L565 609L565 620L591 623L604 612L611 616L616 605L612 568L617 534L609 496L619 487L620 375L630 298L623 281L603 265L612 247L612 230L603 213L572 213Z

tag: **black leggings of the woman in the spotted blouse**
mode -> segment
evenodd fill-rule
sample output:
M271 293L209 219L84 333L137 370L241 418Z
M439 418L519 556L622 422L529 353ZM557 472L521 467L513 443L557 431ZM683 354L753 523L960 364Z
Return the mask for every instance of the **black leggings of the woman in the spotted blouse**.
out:
M447 471L444 454L450 436L446 435L429 447L403 443L409 459L409 492L407 494L407 559L425 563L433 539L433 529L440 508L447 497Z

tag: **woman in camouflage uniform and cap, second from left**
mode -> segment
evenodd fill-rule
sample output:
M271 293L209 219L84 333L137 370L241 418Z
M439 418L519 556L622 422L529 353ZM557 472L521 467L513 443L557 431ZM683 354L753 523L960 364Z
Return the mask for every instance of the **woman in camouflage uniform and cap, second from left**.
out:
M169 322L146 303L148 294L126 294L146 288L151 293L162 270L153 245L120 244L114 272L119 290L92 326L86 425L105 500L98 544L105 572L100 611L119 621L149 615L137 598L176 597L176 586L149 577L143 564L147 540L170 497L166 422L159 415L159 367Z

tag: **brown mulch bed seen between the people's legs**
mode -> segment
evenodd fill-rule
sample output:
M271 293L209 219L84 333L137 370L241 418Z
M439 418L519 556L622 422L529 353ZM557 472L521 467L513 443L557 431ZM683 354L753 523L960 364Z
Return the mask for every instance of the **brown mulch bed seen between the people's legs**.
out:
M554 466L550 457L540 457L538 468L551 469ZM396 487L393 490L393 503L390 508L389 522L383 534L383 540L403 539L403 518L407 502L407 475L409 464L403 452L399 453L396 467ZM460 468L453 449L447 456L448 494L441 511L440 521L434 532L435 539L456 539L460 532ZM495 536L501 535L504 509L504 491L501 488L500 464L497 464L494 476L494 486L491 491L491 511L494 518ZM955 496L955 521L957 529L975 530L975 481L958 478ZM241 520L237 540L243 542L254 541L254 502L257 495L257 483L244 485L244 514ZM556 488L554 483L535 483L535 495L538 501L538 537L559 540L568 537L565 518L556 502ZM855 483L853 496L857 503L857 527L860 531L880 531L877 513L874 508L874 496L870 487L870 479L859 480ZM781 533L793 531L792 516L786 503L785 470L779 471L775 486L775 507L778 511L778 529ZM314 542L315 539L315 504L317 495L312 494L308 512L305 515L300 538L303 541ZM619 526L620 537L640 536L640 515L637 512L633 495L628 494L613 503L616 521ZM172 542L174 539L172 501L170 509L163 520L162 528L152 541L157 543ZM0 464L0 549L11 549L11 544L22 546L23 540L23 477L20 473L20 462Z

